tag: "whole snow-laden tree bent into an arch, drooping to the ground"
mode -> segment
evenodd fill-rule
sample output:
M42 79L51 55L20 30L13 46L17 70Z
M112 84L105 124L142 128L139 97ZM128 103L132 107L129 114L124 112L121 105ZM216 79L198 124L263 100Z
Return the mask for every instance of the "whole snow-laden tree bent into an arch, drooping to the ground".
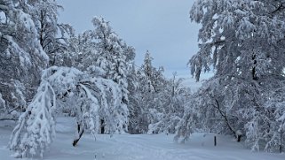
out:
M129 110L122 100L122 89L113 80L94 77L72 67L48 68L44 70L34 100L20 116L12 133L10 148L16 156L43 156L54 134L52 110L55 110L56 103L59 104L57 112L66 110L68 106L70 116L75 117L78 131L74 146L84 130L100 133L102 118L106 123L106 133L124 133L127 131Z

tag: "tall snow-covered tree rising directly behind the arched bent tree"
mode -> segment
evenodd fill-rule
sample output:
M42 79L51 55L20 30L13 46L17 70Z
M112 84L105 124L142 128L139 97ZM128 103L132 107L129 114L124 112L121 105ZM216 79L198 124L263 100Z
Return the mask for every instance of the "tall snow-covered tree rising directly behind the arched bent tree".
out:
M95 29L74 38L72 50L78 52L80 69L118 84L123 94L123 103L119 106L125 108L129 103L127 75L133 64L134 50L115 34L105 19L95 17L92 23ZM102 117L101 120L102 126L107 126L106 119Z

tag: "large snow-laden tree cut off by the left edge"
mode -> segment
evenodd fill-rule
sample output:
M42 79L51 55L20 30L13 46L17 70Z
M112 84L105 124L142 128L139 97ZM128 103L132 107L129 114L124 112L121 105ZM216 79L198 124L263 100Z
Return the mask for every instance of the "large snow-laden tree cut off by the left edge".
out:
M36 26L22 1L0 1L0 93L9 115L32 99L48 57L37 40Z

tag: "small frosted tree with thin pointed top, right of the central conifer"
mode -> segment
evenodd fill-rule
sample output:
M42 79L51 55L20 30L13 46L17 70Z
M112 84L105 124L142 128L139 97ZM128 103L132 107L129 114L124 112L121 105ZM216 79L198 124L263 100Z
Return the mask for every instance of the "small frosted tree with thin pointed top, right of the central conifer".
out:
M148 127L148 133L175 133L178 122L183 117L184 107L190 100L190 89L182 85L183 79L177 80L177 73L164 83L164 88L155 95L160 101L159 114L153 113L155 120ZM157 101L157 100L156 100Z

